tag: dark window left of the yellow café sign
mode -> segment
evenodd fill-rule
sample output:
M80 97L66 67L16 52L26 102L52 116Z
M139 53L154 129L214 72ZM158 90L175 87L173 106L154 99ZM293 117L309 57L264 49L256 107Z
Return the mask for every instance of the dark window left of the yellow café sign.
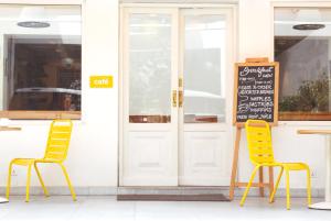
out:
M0 5L0 115L81 118L78 5Z

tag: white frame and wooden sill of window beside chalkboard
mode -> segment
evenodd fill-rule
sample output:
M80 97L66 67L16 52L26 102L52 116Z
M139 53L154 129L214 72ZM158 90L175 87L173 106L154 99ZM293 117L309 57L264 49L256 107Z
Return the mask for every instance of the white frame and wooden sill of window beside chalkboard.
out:
M279 0L271 0L270 2L270 54L269 57L271 60L275 59L275 10L277 8L329 8L331 9L331 1L316 1L316 2L308 2L308 1L279 1ZM290 117L289 117L290 115ZM280 125L331 125L331 112L321 113L319 115L310 117L307 120L307 112L300 114L298 112L290 112L290 113L282 113L278 111L279 124ZM327 118L324 118L325 115ZM291 118L292 120L288 120L287 118Z

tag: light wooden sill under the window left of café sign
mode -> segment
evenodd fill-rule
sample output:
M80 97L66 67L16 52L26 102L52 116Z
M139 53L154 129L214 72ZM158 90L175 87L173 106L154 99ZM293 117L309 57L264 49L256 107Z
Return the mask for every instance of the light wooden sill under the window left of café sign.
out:
M81 120L81 111L0 111L0 118L12 120Z

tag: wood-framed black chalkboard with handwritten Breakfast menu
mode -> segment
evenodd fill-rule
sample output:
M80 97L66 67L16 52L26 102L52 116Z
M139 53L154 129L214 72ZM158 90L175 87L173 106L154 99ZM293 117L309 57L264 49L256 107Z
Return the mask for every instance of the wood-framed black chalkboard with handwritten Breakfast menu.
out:
M277 124L278 77L279 64L268 63L266 58L236 64L234 124L243 125L248 119Z

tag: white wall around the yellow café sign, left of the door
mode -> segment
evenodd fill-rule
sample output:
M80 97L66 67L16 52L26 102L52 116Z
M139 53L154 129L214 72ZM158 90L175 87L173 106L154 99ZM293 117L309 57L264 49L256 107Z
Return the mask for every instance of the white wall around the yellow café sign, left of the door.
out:
M117 186L118 1L86 0L83 20L83 119L74 123L65 165L76 187ZM113 75L114 88L90 89L92 75ZM22 126L22 131L0 133L0 186L6 186L10 159L43 156L50 121L13 124ZM15 172L13 185L24 186L26 168L17 167ZM42 166L42 174L47 186L66 185L56 166ZM39 186L35 175L32 186Z

